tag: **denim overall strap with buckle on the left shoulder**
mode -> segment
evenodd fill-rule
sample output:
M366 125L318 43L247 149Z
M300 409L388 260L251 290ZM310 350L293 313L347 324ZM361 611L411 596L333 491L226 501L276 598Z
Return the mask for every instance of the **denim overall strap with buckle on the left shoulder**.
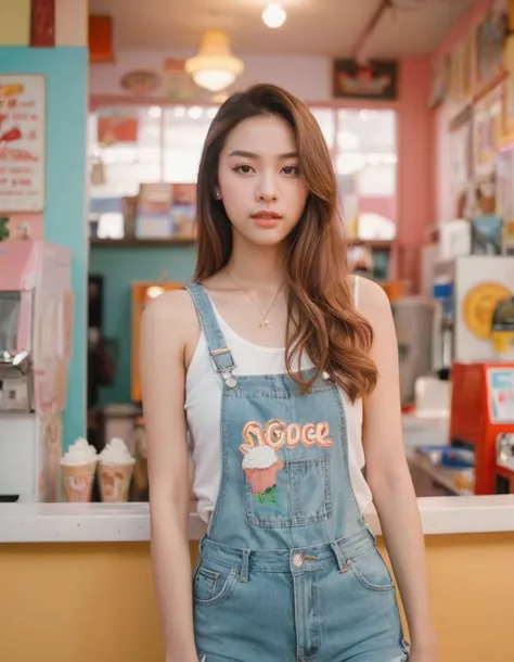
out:
M226 384L233 389L237 383L236 379L232 375L236 366L232 352L227 346L223 333L219 328L213 303L202 283L191 282L185 289L190 293L196 308L216 371L221 374Z

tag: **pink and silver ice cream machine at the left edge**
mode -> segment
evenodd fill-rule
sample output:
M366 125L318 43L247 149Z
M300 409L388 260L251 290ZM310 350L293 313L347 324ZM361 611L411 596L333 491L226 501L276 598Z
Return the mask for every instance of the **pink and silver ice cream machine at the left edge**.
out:
M70 252L0 242L0 500L60 500L72 352Z

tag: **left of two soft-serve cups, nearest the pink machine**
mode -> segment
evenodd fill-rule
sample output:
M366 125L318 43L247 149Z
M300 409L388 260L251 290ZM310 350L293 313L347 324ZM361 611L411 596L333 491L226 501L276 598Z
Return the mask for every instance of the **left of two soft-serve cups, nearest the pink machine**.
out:
M98 454L83 437L74 442L61 458L67 501L90 501Z

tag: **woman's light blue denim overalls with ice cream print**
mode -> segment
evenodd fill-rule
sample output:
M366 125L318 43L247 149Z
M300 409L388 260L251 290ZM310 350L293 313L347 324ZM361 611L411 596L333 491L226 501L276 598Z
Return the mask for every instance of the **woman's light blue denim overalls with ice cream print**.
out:
M221 481L193 576L198 660L403 662L395 587L351 487L337 386L320 378L304 395L287 374L234 375L208 295L188 290L224 382Z

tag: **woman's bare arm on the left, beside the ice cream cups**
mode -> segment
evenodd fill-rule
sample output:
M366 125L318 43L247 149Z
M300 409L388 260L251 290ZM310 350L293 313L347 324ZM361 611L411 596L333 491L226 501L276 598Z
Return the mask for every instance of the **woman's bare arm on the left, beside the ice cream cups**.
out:
M166 662L197 662L189 551L190 483L184 419L185 292L152 302L141 327L152 562Z

